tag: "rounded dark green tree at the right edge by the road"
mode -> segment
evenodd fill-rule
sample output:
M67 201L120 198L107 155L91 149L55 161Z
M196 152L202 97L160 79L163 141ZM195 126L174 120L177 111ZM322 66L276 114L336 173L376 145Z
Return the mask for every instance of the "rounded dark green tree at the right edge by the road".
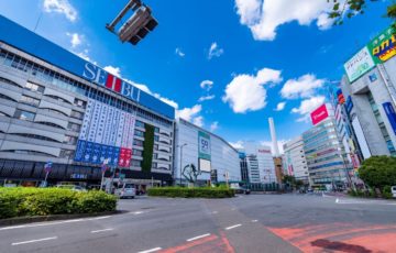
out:
M372 156L363 162L359 176L374 188L396 185L396 157Z

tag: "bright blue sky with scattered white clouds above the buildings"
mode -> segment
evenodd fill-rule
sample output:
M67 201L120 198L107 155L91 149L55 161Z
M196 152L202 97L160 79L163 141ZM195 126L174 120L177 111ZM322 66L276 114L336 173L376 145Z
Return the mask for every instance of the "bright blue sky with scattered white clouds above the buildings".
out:
M160 25L138 46L105 29L127 0L0 1L0 13L177 106L232 143L308 128L343 63L391 21L389 1L331 26L326 0L145 0ZM280 103L280 105L279 105ZM276 110L279 109L279 110ZM282 110L280 110L282 109Z

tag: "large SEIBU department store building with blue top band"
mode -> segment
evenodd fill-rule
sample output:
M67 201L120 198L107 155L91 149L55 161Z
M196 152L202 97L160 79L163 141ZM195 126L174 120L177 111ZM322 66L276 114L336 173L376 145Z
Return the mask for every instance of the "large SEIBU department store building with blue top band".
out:
M175 109L0 15L0 178L172 184Z

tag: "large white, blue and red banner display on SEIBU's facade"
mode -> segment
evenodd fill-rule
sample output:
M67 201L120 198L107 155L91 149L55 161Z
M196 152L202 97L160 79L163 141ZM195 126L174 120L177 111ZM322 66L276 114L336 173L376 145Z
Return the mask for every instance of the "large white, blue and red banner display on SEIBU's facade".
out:
M78 136L75 161L129 167L132 156L134 116L109 105L88 99Z

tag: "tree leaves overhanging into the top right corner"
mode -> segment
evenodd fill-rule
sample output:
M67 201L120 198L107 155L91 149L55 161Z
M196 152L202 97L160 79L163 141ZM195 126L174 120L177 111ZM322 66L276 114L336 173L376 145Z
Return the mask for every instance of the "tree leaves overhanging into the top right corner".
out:
M351 19L358 14L363 14L367 8L367 2L377 2L378 0L327 0L333 2L333 9L329 16L334 19L334 24L342 24L344 18ZM396 1L393 1L387 7L386 18L396 21ZM396 28L396 23L394 23Z

